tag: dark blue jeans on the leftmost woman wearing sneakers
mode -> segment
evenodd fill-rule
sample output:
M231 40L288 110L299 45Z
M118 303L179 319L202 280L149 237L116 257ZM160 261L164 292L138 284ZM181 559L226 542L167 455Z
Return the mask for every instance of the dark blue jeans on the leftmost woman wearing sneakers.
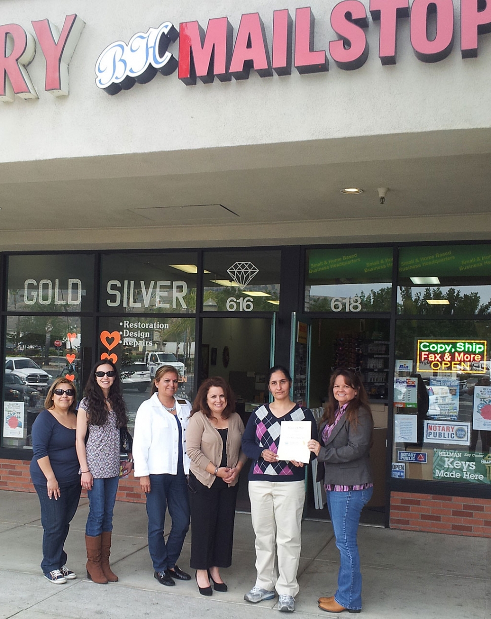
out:
M43 560L41 569L47 574L60 569L67 562L64 543L70 529L70 521L79 506L80 482L60 488L58 500L50 499L46 484L35 484L41 504L41 524L43 525Z

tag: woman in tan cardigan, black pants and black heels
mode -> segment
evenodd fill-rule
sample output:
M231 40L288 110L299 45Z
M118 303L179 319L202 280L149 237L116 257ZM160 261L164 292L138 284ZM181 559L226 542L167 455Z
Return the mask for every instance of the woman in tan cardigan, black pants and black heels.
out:
M187 425L190 457L191 560L202 595L227 591L220 568L232 565L237 482L246 456L241 449L244 424L235 397L220 376L207 378L194 400Z

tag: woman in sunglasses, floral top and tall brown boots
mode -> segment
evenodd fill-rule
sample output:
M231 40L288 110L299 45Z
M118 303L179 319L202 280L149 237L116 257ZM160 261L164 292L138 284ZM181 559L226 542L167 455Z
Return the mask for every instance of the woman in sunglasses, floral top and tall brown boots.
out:
M109 555L121 465L121 429L126 430L127 423L116 366L112 361L98 361L90 372L77 415L80 483L89 501L85 526L87 578L98 584L117 581L109 566ZM132 468L129 456L124 474Z

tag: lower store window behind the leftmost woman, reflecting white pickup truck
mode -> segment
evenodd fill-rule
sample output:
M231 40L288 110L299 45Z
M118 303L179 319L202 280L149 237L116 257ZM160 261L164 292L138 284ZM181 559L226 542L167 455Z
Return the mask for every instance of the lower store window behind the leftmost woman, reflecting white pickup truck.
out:
M66 376L82 397L88 319L74 316L9 316L6 321L2 393L2 446L32 448L31 428L44 409L53 380ZM90 334L88 339L90 340Z

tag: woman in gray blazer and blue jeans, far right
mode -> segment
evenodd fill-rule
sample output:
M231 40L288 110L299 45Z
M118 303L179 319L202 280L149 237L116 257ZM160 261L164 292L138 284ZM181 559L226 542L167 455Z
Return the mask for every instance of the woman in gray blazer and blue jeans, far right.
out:
M374 421L367 392L357 374L339 368L331 376L329 400L319 440L309 441L317 455L317 480L323 478L340 566L335 595L321 597L329 613L361 611L361 571L357 545L360 514L374 491L370 445Z

